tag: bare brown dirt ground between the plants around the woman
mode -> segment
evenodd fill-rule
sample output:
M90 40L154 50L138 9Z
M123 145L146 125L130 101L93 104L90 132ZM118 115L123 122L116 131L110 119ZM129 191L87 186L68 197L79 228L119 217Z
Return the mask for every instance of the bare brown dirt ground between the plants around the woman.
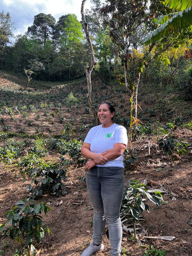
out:
M31 113L30 120L35 124L37 121L33 115ZM70 119L67 115L69 114L66 114L66 118ZM13 130L26 127L29 133L36 127L27 126L26 121L19 117L19 113L17 123L14 123L8 115L4 115L4 118L6 124L13 126ZM60 131L62 131L61 126L57 123L57 129ZM44 129L44 132L50 134L58 131L45 121ZM177 128L174 134L192 145L192 131ZM1 147L3 143L1 142ZM124 234L122 255L142 256L145 255L145 250L153 245L156 250L166 250L167 256L191 256L192 147L187 148L187 154L169 156L158 148L156 136L148 136L132 142L128 151L127 157L135 154L138 159L125 168L125 181L138 180L140 183L147 181L147 189L162 191L164 202L161 207L148 202L150 213L143 212L143 220L139 221L141 229L146 230L145 237L141 239L142 245L138 245L131 234ZM51 158L58 157L58 153L52 152ZM27 194L25 188L28 181L23 183L21 177L16 177L15 173L11 172L13 167L0 164L0 225L6 221L4 214ZM80 256L92 241L93 208L86 185L83 180L78 179L79 176L85 176L84 167L67 171L66 196L57 198L46 195L37 200L37 202L45 202L51 208L51 211L43 216L45 225L49 226L50 235L46 234L41 243L36 245L37 255ZM174 236L174 239L166 241L151 238L159 236ZM7 242L7 238L1 238L0 249L3 252L0 255L12 256L18 247L17 243L10 242L9 246L3 246L3 241ZM95 255L110 255L110 243L106 233L103 235L103 244L105 249ZM156 255L161 256L161 254Z

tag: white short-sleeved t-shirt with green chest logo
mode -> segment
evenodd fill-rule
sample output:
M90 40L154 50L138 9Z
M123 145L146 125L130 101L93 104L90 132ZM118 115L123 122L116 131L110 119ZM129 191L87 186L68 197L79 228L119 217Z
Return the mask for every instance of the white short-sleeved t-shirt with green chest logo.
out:
M114 123L110 127L103 128L101 124L91 128L91 130L87 133L84 142L90 144L90 150L93 153L99 154L113 148L115 143L123 143L127 146L127 132L125 127L122 125ZM114 160L108 161L104 165L97 164L97 166L124 168L123 155Z

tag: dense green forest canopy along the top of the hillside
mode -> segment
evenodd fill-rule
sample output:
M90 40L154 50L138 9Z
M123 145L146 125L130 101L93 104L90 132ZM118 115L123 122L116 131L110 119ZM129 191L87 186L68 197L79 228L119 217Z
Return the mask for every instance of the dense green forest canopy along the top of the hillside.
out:
M131 92L137 84L135 77L139 77L141 83L170 85L191 98L191 25L175 28L149 46L141 44L161 26L155 22L158 17L179 11L178 5L173 9L173 2L179 0L167 2L169 5L156 0L108 0L101 4L92 0L85 17L97 61L94 72L103 81L127 83ZM0 69L25 75L25 70L33 67L31 63L38 62L41 65L30 74L36 80L63 82L85 76L90 51L82 22L75 14L62 15L56 21L51 14L39 13L26 33L14 41L10 14L2 11L0 20Z

